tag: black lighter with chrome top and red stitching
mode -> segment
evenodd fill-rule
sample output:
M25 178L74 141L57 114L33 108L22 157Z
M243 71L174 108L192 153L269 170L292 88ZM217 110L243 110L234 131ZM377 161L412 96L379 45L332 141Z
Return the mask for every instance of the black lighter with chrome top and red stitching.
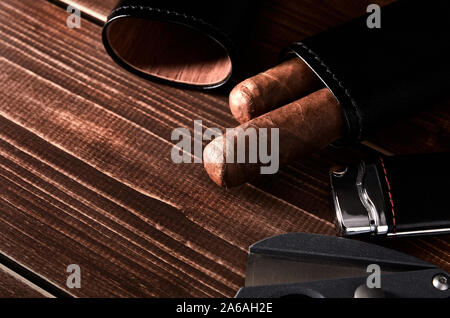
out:
M343 236L450 233L450 153L383 157L331 172Z

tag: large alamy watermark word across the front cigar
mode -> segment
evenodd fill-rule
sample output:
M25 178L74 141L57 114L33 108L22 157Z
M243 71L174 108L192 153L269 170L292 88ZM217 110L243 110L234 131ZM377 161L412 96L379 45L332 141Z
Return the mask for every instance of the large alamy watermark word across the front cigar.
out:
M269 138L270 136L270 138ZM171 152L174 163L203 163L203 142L223 137L221 145L224 156L209 159L206 163L260 164L261 174L275 174L280 167L278 128L227 128L225 135L218 128L203 132L201 120L194 121L194 137L187 128L177 128L171 140L178 142ZM269 145L270 139L270 145ZM270 152L270 153L269 153ZM208 160L208 158L206 159Z

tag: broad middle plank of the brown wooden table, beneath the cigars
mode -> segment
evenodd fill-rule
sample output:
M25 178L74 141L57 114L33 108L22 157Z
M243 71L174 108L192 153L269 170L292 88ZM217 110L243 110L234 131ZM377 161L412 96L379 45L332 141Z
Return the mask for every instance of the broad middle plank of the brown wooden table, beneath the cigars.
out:
M61 288L79 264L76 296L232 296L249 244L333 233L314 183L297 180L300 196L320 198L299 207L255 186L218 189L201 165L170 161L173 128L232 124L226 98L143 82L110 62L99 27L69 30L57 7L11 3L0 27L4 252Z

